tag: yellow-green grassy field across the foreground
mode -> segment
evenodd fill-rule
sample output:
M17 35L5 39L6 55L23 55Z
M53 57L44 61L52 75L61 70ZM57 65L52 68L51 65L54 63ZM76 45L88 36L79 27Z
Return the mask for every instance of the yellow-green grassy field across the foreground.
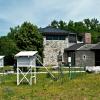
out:
M32 86L17 86L16 75L0 75L0 100L100 100L100 74L74 75L72 80L64 74L53 81L47 74L38 74Z

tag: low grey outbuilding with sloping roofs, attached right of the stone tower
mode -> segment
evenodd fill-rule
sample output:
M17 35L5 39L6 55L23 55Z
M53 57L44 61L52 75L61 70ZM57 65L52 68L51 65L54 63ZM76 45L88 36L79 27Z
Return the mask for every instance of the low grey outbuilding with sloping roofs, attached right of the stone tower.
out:
M95 66L95 52L91 50L97 44L78 43L65 49L66 60L71 57L72 66Z

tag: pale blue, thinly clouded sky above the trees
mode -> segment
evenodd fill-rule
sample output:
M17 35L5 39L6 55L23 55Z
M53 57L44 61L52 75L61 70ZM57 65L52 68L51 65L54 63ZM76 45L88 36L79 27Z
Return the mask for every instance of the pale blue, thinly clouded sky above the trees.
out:
M85 18L100 20L100 0L0 0L0 36L24 21L45 27L54 19Z

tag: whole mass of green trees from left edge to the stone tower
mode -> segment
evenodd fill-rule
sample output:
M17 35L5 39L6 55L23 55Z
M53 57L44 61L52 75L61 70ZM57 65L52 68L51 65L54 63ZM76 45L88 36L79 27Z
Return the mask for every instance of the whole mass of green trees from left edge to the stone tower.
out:
M14 64L14 55L21 50L37 50L43 55L42 34L37 26L29 22L10 28L8 35L0 38L0 55L5 55L5 65Z

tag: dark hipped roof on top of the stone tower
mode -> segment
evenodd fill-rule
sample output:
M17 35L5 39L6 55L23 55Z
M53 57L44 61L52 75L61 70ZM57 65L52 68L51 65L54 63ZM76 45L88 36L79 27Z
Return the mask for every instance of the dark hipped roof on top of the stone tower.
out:
M43 35L68 35L69 33L68 31L52 27L40 28L39 30Z

